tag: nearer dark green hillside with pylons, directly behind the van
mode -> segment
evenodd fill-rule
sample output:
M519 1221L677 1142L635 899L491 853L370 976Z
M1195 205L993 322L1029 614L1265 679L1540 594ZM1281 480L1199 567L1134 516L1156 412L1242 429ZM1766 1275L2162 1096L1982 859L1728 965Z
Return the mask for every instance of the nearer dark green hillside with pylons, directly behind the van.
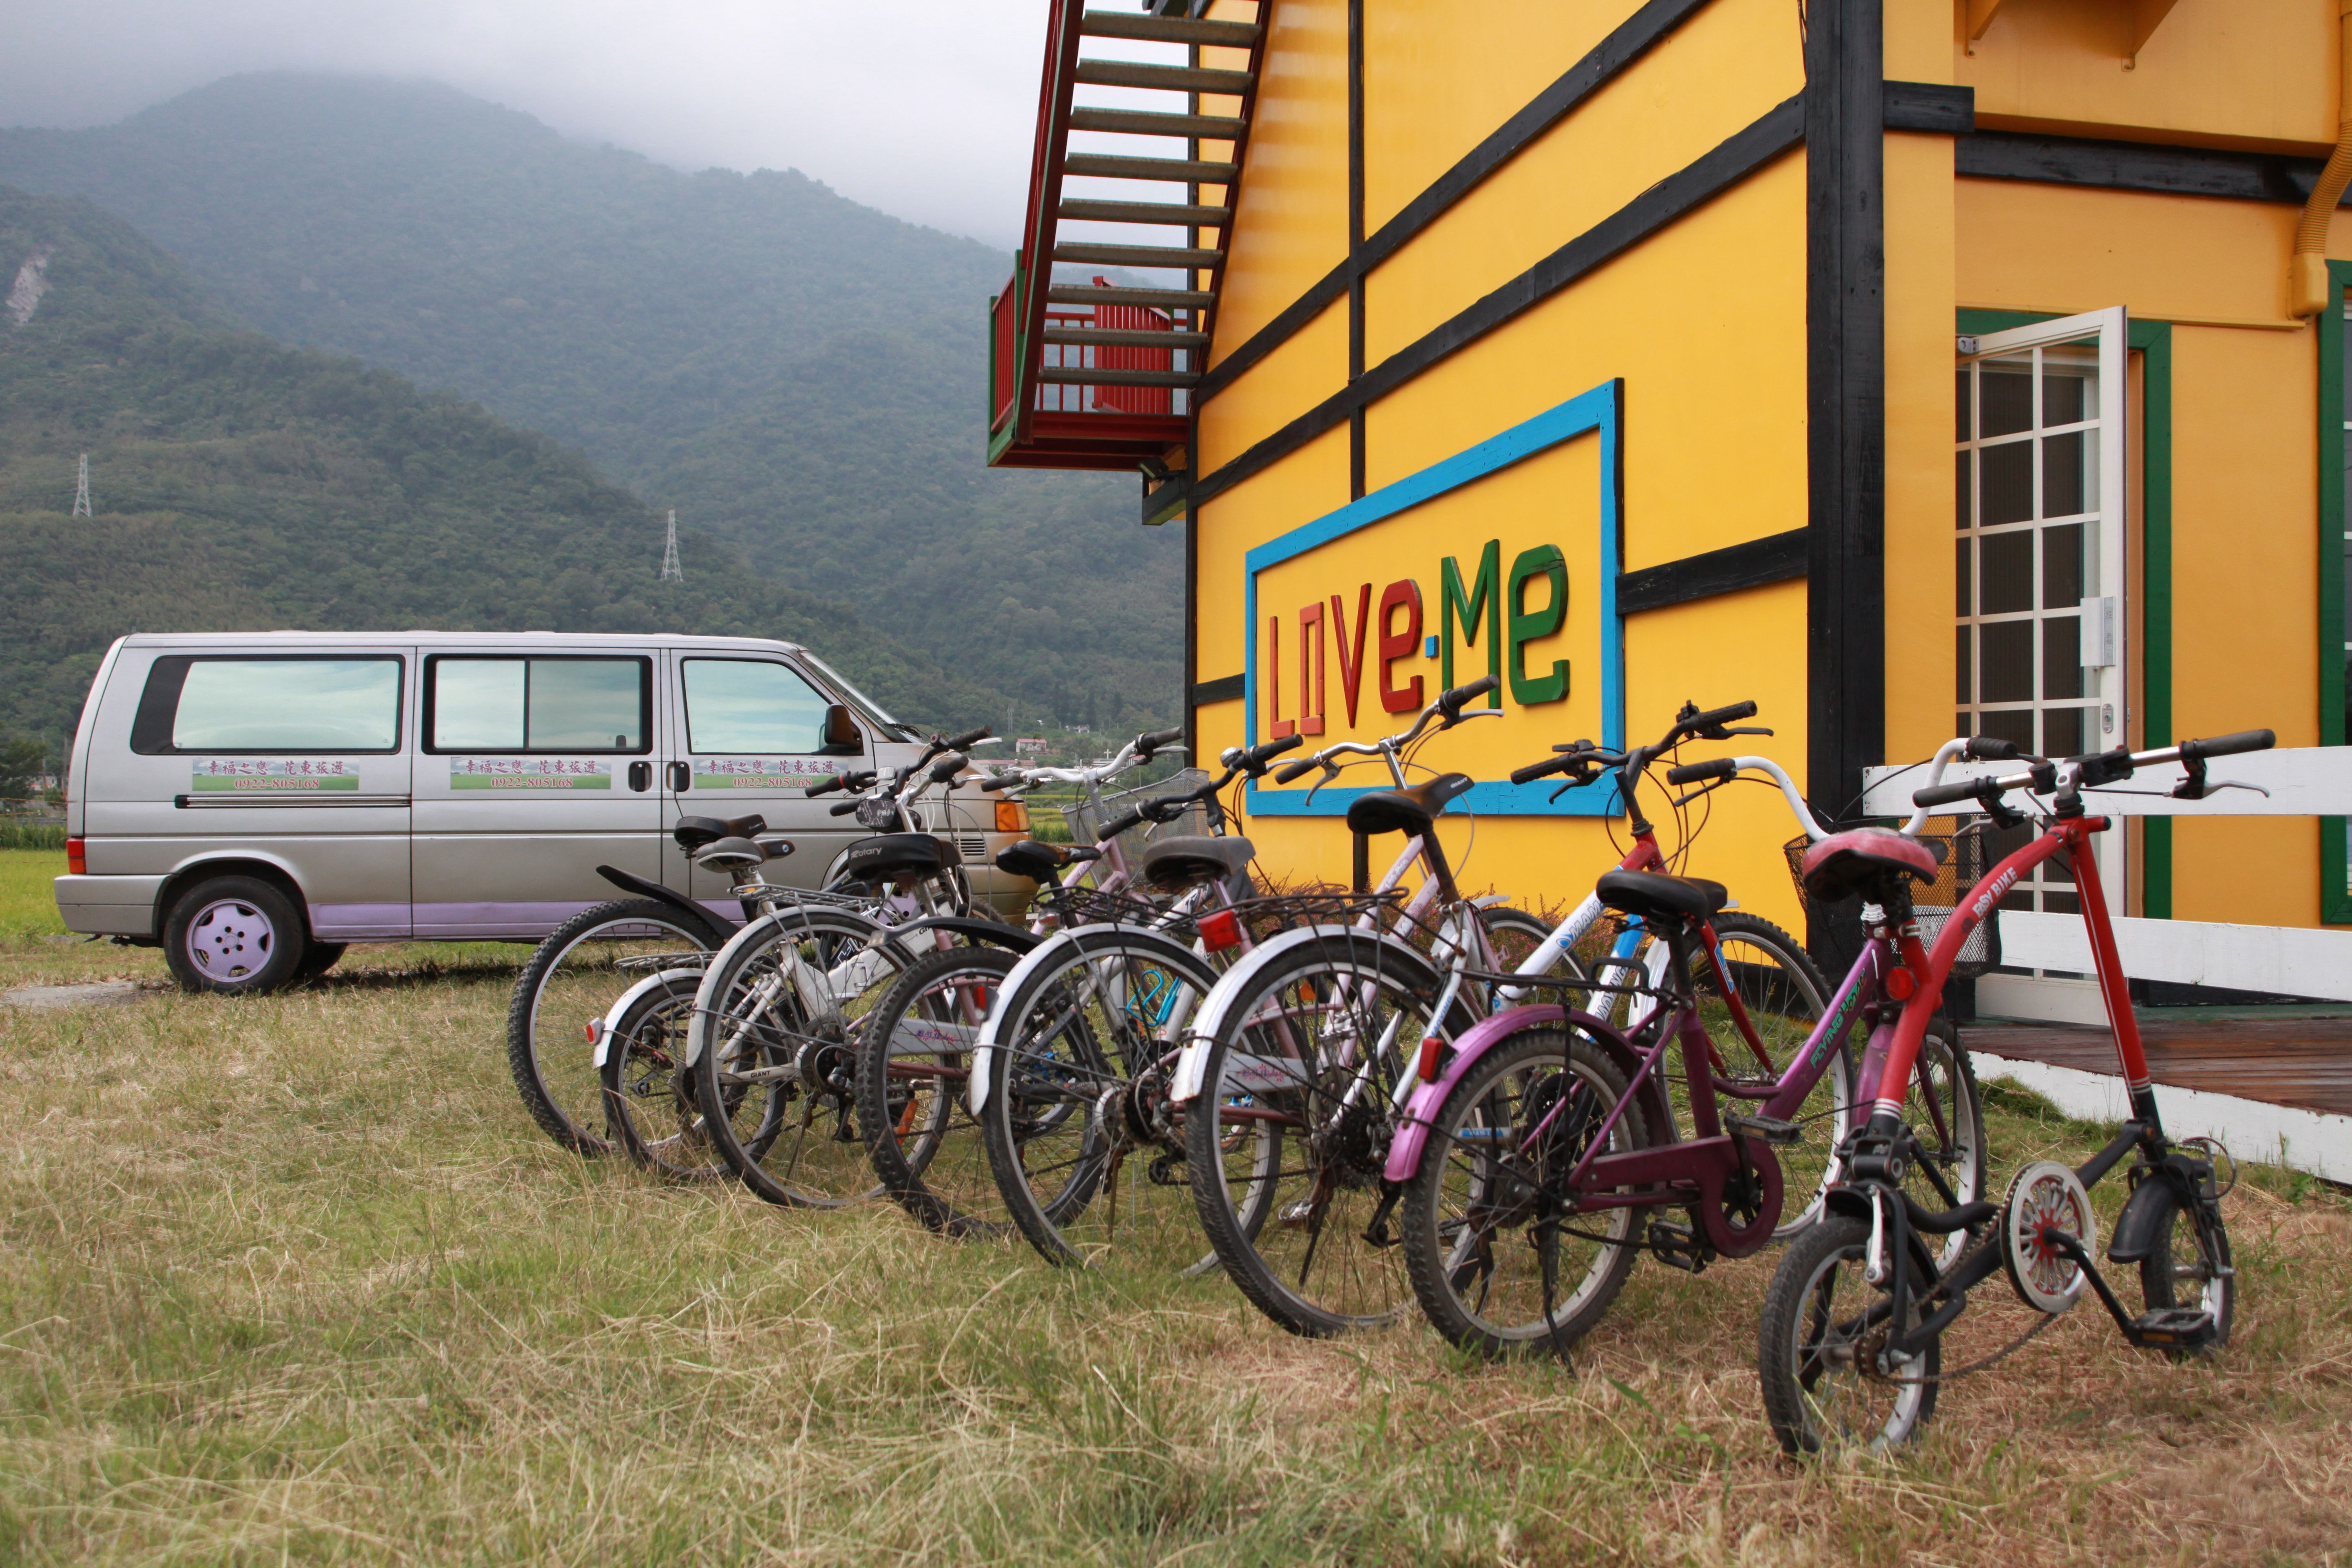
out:
M579 451L294 350L80 197L0 186L0 729L71 731L127 630L699 630L816 646L908 719L995 693L682 534ZM89 454L92 517L73 517Z

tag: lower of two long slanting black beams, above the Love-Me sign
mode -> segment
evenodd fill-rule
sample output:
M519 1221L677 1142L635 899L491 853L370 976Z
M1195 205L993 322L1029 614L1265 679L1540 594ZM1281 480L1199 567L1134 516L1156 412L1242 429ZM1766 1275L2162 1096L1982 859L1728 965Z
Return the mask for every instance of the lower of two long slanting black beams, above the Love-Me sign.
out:
M1418 341L1381 360L1352 386L1324 397L1319 404L1249 447L1216 473L1195 480L1192 505L1232 489L1249 475L1272 465L1291 451L1298 451L1317 435L1345 423L1355 409L1378 402L1439 360L1477 343L1503 322L1531 310L1661 228L1668 228L1698 207L1705 207L1731 186L1738 186L1750 174L1795 148L1802 139L1804 101L1788 99L1778 108L1766 110L1764 118L1748 129L1736 132L1708 153L1700 153L1686 167L1668 174L1656 186L1632 197L1461 315L1437 324Z

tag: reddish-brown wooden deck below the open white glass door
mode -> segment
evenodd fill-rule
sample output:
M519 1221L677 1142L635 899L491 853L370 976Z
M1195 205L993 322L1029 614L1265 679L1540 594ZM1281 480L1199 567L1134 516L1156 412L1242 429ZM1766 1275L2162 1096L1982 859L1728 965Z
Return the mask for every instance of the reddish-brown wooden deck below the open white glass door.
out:
M1985 1018L1962 1025L1959 1039L1980 1056L2122 1077L2105 1027ZM2352 1016L2340 1011L2199 1009L2171 1020L2143 1009L2140 1041L2157 1084L2352 1117Z

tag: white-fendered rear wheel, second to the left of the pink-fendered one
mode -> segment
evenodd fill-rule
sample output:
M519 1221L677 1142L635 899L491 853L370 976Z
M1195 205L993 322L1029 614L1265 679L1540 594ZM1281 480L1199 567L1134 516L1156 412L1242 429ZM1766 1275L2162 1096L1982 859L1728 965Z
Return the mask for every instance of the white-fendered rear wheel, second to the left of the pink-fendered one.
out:
M1152 1246L1190 1234L1192 1208L1171 1192L1185 1185L1185 1145L1167 1077L1178 1030L1214 983L1169 936L1077 926L1023 959L990 1013L988 1168L1047 1262L1091 1262L1122 1227ZM1134 1157L1148 1159L1143 1171L1129 1171Z

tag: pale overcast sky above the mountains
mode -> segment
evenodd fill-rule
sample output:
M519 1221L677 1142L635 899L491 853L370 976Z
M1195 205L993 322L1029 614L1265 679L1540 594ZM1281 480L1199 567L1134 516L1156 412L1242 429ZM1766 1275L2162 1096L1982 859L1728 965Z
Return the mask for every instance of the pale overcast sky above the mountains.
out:
M1047 12L1047 0L0 5L7 125L108 125L233 71L423 75L684 169L800 169L1004 249L1018 242Z

